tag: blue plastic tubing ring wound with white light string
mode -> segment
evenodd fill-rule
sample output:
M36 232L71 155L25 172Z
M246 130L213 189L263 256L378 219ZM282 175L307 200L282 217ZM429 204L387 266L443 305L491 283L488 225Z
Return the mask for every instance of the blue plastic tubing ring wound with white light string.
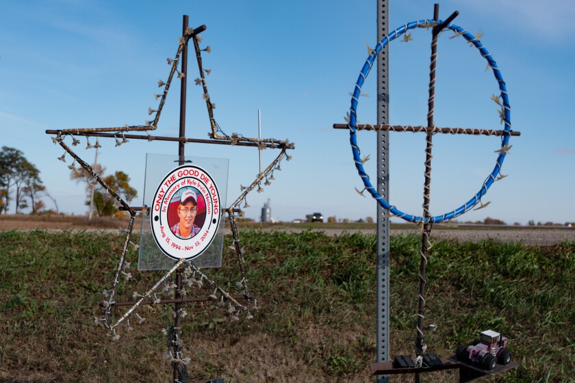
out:
M494 183L496 177L500 173L501 167L503 165L503 160L505 159L505 152L502 151L502 153L500 153L500 155L497 157L497 162L495 164L494 170L489 174L489 176L487 176L487 179L485 179L485 181L483 182L483 185L481 185L481 189L479 189L479 191L473 196L473 198L471 198L470 200L468 200L468 202L465 202L464 204L462 204L460 207L458 207L457 209L455 209L453 211L450 211L448 213L444 213L442 215L435 215L435 217L424 218L424 217L419 217L417 215L411 215L411 214L404 213L403 211L400 211L399 209L397 209L393 205L389 204L389 202L387 202L385 199L383 199L383 197L380 194L377 193L377 190L373 187L368 174L366 174L365 170L363 169L363 163L361 163L360 150L359 150L359 146L357 145L357 137L356 137L357 105L358 105L359 94L361 92L361 86L363 85L363 82L366 81L366 78L368 77L368 74L372 68L372 65L374 64L374 61L376 59L377 54L390 41L395 40L396 38L398 38L399 36L404 34L406 31L409 31L409 29L416 28L416 27L418 27L418 25L426 25L426 23L433 23L433 20L428 19L428 20L413 21L409 24L403 25L403 26L399 27L398 29L395 29L394 31L389 33L387 36L385 36L383 38L383 40L381 40L376 45L375 49L372 50L372 53L370 54L370 56L366 60L366 63L363 64L363 68L361 68L361 72L359 73L359 77L357 78L357 82L355 83L355 89L353 91L353 96L351 97L350 118L349 118L348 127L350 129L349 141L350 141L350 145L351 145L351 150L353 152L353 159L355 161L355 168L357 168L357 172L359 173L359 176L361 177L361 179L363 181L363 185L365 185L365 187L366 187L366 190L368 192L370 192L372 197L375 200L377 200L377 202L379 202L381 207L383 207L386 210L389 210L390 213L392 213L398 217L401 217L408 222L439 223L439 222L442 222L444 220L451 220L452 218L458 217L459 215L465 213L466 211L469 211L470 209L472 209L472 207L474 207L476 204L478 204L481 197L487 193L487 189L489 189L491 184ZM442 23L442 21L437 21L438 25L441 23ZM478 49L479 53L481 53L481 55L485 58L485 60L487 60L487 62L489 62L489 66L493 70L495 79L499 83L499 90L501 92L500 98L502 100L503 107L504 107L504 124L505 124L504 132L507 132L507 133L511 132L511 108L509 107L509 96L507 95L507 88L505 88L505 82L503 81L503 77L501 75L501 72L500 72L499 68L497 67L497 63L495 62L493 57L491 57L491 54L489 53L489 51L487 51L487 49L485 47L483 47L483 44L481 44L481 41L477 40L475 38L475 36L470 34L468 31L465 31L463 28L458 27L457 25L454 25L454 24L448 25L446 27L446 29L451 29L452 31L457 31L457 33L460 34L461 36L463 36L463 38L465 38L465 40L474 44L474 46ZM510 137L510 134L501 135L501 147L502 148L504 148L505 146L507 146L507 144L509 144L509 137Z

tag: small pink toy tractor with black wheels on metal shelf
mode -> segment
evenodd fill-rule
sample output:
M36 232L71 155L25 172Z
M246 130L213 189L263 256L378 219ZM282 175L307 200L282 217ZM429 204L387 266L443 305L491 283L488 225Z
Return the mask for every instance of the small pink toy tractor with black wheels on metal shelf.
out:
M498 332L487 330L479 333L472 345L460 345L455 352L457 360L479 365L486 371L495 368L496 363L509 365L511 352L507 347L507 338Z

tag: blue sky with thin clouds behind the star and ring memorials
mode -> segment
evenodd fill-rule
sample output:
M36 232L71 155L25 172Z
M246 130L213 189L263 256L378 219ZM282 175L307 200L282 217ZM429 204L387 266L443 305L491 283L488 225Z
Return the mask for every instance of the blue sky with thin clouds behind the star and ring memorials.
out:
M433 1L389 1L390 29L433 16ZM205 24L203 55L212 73L207 85L223 131L289 138L296 149L282 172L261 194L248 196L246 216L259 218L269 198L272 217L292 220L320 211L357 220L375 217L376 205L362 189L353 166L348 133L331 128L344 122L349 92L364 60L366 43L376 44L375 1L0 1L0 145L22 150L39 168L61 211L81 214L84 187L70 181L45 129L143 124L158 79L166 79L166 57L181 36L182 15L190 26ZM511 123L521 137L504 161L503 174L483 202L489 207L461 220L496 217L508 223L575 221L575 133L573 89L575 4L541 1L443 1L440 18L454 10L454 23L476 34L498 63L509 91ZM435 98L437 126L500 129L491 94L497 83L486 62L462 38L442 34L438 46ZM413 41L390 44L389 118L392 124L426 124L429 42L425 29ZM190 55L189 77L197 77ZM359 107L361 122L376 122L375 71ZM206 138L209 121L201 89L188 84L186 132ZM177 135L179 85L170 89L158 135ZM363 155L375 176L374 133L362 132ZM424 172L422 134L390 133L389 201L420 215ZM100 141L99 162L108 172L131 176L142 201L146 153L177 154L177 144L136 142L118 148ZM459 207L494 168L496 137L439 136L433 139L431 213ZM80 148L80 146L77 146ZM94 151L78 151L93 160ZM230 161L228 201L258 170L255 148L189 144L186 154ZM275 152L264 150L263 163ZM52 202L46 200L48 207Z

